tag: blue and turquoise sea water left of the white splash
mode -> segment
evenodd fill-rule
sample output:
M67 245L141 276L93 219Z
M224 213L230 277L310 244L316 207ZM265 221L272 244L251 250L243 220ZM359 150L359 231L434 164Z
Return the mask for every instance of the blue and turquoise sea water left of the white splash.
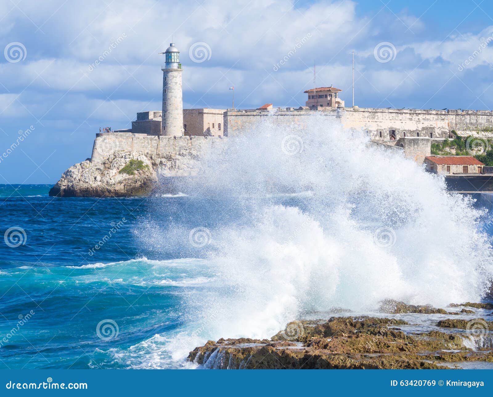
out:
M185 303L216 276L188 231L237 222L247 205L49 188L0 185L0 368L183 367L211 337Z

